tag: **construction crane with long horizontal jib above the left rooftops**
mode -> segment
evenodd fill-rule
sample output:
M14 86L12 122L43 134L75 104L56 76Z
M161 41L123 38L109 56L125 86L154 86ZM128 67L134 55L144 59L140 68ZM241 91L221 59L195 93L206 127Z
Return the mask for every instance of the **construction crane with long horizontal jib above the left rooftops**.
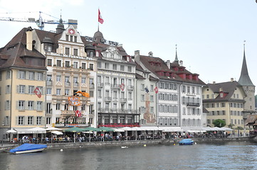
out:
M30 12L31 13L31 12ZM36 23L36 25L38 26L38 28L40 30L43 30L44 26L45 26L45 23L48 23L48 24L59 24L60 23L60 20L43 20L42 16L41 16L41 11L39 11L39 18L36 20L36 18L12 18L12 17L0 17L0 21L15 21L15 22L26 22L26 23ZM44 13L46 15L48 15L47 13ZM51 15L48 15L48 16L51 16ZM56 18L54 16L51 16L53 18ZM58 18L56 18L58 19ZM63 24L70 24L70 25L75 25L75 28L76 28L76 25L78 25L78 21L76 20L68 20L67 21L63 21Z

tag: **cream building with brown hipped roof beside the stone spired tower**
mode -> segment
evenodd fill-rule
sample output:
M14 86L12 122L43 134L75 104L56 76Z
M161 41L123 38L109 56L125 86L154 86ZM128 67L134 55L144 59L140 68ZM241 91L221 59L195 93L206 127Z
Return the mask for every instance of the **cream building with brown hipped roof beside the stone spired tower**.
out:
M243 104L246 93L237 81L207 84L203 88L204 107L209 111L207 125L213 126L213 121L221 119L226 126L244 128Z

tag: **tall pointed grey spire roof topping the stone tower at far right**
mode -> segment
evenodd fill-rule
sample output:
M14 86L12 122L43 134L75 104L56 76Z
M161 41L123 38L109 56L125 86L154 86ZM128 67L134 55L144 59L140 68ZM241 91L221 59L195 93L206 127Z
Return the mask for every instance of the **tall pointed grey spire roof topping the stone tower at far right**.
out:
M246 41L244 41L244 42L246 42ZM241 75L238 80L238 83L241 84L241 86L254 86L249 77L249 74L248 74L248 69L247 69L247 64L246 64L245 43L243 43L243 64L242 64Z

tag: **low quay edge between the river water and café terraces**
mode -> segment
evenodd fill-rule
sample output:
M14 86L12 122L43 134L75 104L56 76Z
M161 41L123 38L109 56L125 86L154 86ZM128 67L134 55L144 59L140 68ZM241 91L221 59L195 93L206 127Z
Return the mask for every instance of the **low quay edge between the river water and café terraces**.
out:
M93 148L93 147L122 147L122 146L139 146L139 145L177 145L182 138L164 139L164 140L125 140L125 141L105 141L105 142L67 142L67 143L48 143L47 149L72 149L72 148ZM235 142L249 141L253 137L220 137L220 138L193 138L194 142ZM9 149L19 146L20 144L3 143L0 145L0 152L9 152Z

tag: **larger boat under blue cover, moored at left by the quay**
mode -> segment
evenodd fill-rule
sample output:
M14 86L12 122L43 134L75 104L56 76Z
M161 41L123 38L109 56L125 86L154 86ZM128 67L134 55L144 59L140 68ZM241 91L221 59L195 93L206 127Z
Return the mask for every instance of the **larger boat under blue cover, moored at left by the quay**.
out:
M24 153L31 153L31 152L42 152L47 145L39 145L39 144L23 144L19 147L11 149L10 152L13 154L24 154Z

